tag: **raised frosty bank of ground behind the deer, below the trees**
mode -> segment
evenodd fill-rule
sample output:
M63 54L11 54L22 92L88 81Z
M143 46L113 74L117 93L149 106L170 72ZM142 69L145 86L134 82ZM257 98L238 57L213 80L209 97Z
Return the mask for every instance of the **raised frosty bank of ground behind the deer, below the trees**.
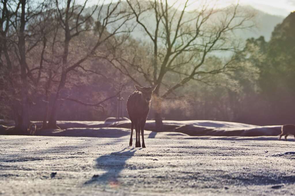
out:
M35 122L38 127L42 126L41 122ZM104 121L58 121L58 126L63 131L56 132L58 136L76 136L78 133L77 128L81 128L78 136L96 137L96 132L102 130L99 128L127 128L130 129L131 121L123 120L118 122L104 122ZM11 130L6 131L7 126L14 125L13 122L5 122L0 120L0 124L6 125L6 127L0 125L0 134L11 134ZM87 130L86 130L87 128ZM93 130L93 131L91 131ZM118 129L119 130L119 129ZM145 130L156 131L155 121L147 120L145 124ZM38 135L47 136L49 133L47 130L38 133ZM51 130L52 131L52 130ZM165 132L178 132L191 136L276 136L281 133L281 125L275 126L258 126L249 125L244 123L223 122L213 120L163 120L163 131ZM84 134L83 134L84 133ZM87 135L90 134L90 135ZM53 134L49 134L52 135Z

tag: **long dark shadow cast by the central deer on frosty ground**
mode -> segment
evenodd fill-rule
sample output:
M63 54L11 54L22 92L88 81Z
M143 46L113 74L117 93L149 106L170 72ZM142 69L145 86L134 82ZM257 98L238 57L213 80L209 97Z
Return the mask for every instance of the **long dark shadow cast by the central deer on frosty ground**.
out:
M106 170L106 172L103 175L94 175L85 184L102 183L113 187L118 186L117 178L120 172L126 167L126 161L136 152L135 148L125 151L126 149L128 148L97 158L96 168Z

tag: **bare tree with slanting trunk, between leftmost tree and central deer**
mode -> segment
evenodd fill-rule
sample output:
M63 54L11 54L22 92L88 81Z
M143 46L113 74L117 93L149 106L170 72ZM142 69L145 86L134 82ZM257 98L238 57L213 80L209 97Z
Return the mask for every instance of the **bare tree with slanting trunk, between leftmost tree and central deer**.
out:
M49 128L56 128L58 100L60 100L61 91L65 88L69 73L79 70L86 71L84 68L86 61L94 56L99 47L103 47L109 39L120 33L128 33L126 29L122 30L122 27L125 25L126 21L130 19L130 14L126 13L120 7L121 1L116 1L114 4L111 2L108 5L102 4L101 6L95 6L90 14L83 13L87 0L82 6L76 5L75 1L67 0L66 6L63 8L60 7L60 1L56 0L55 3L57 8L57 20L64 33L64 40L62 41L63 54L61 55L61 75L48 122ZM94 14L96 11L98 13L97 16ZM97 21L94 21L93 17L97 17ZM114 24L118 25L115 26ZM113 28L110 28L110 26ZM89 32L96 33L95 42L91 41L87 46L88 49L86 53L84 52L85 49L81 48L80 51L78 51L81 56L76 55L75 58L69 59L71 42L73 42L77 36L81 35L81 33Z

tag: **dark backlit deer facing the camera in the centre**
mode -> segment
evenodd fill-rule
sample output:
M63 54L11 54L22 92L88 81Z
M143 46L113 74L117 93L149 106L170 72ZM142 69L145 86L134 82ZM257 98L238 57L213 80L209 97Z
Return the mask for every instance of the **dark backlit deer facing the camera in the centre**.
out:
M140 131L142 136L142 148L145 148L143 130L145 128L145 121L147 120L148 113L150 111L152 94L157 85L151 87L140 87L135 85L134 87L137 91L134 91L127 100L127 111L131 120L131 136L129 146L132 146L133 127L135 126L135 148L140 147Z

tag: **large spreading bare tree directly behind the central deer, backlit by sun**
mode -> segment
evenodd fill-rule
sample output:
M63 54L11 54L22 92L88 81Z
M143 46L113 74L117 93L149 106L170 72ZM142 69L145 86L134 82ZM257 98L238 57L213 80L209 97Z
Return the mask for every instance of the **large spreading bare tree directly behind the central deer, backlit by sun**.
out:
M238 44L232 40L233 32L252 26L249 22L252 15L239 10L238 5L216 9L207 1L207 4L201 2L174 1L169 5L167 0L127 1L138 26L150 40L146 44L150 48L138 56L141 45L134 42L133 51L128 51L129 54L123 51L109 61L137 84L140 81L132 71L150 85L158 85L154 91L158 130L162 129L161 100L191 80L209 83L210 76L231 70L235 58L211 67L207 66L207 59L214 53L236 51ZM200 7L189 10L190 6L196 5ZM113 52L119 53L118 49ZM144 62L146 56L148 60ZM178 79L167 81L171 75Z

